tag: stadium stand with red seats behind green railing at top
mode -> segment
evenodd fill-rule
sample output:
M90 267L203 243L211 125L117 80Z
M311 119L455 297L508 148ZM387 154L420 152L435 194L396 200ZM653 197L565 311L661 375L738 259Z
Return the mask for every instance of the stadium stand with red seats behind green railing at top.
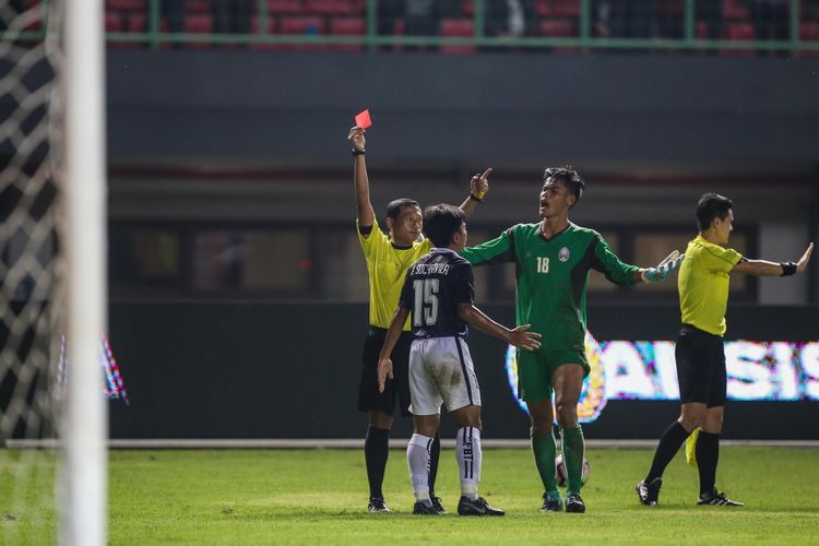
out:
M38 9L47 0L16 1L24 9ZM629 4L625 0L529 0L534 24L527 28L534 31L517 37L487 32L492 13L488 8L497 1L438 0L437 13L420 32L395 0L106 0L105 25L111 48L562 55L614 49L819 56L817 0L787 0L780 12L784 20L757 12L755 1L762 0L708 0L717 5L710 14L701 11L699 0L656 0L649 12L624 12ZM399 8L388 12L385 5ZM226 10L246 32L217 32L225 27L216 23ZM45 24L0 33L15 32L21 40L36 41Z

